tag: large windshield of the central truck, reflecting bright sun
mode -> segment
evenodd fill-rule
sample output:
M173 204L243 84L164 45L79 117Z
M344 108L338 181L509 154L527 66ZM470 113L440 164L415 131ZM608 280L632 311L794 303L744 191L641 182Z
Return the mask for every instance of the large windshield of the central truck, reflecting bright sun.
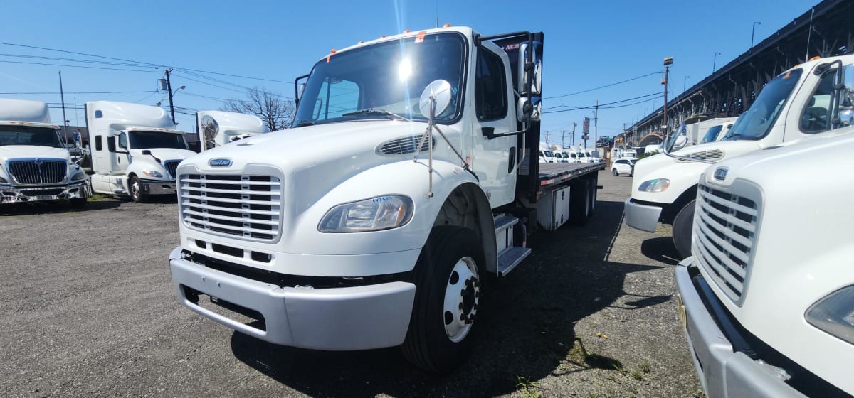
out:
M451 103L437 121L462 108L465 40L459 33L407 37L332 54L308 77L294 126L389 118L388 112L422 119L421 92L436 79L451 84ZM357 112L370 109L373 112Z

